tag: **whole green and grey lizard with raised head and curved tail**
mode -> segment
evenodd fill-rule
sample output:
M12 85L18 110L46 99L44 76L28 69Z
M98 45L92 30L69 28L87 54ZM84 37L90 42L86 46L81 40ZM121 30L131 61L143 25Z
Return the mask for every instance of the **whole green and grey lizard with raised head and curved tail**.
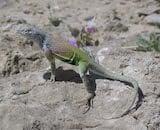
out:
M144 95L139 87L138 82L134 78L120 75L106 69L102 65L96 63L94 61L94 58L92 58L88 53L85 53L85 51L83 51L82 49L71 45L61 37L56 37L55 35L53 36L53 34L46 33L36 26L30 24L22 24L16 28L16 32L25 36L26 38L33 40L43 50L51 66L50 80L55 81L55 59L59 59L65 63L78 66L79 75L88 93L86 99L87 109L84 111L84 113L88 112L90 108L93 107L93 99L96 96L95 87L91 86L90 81L87 78L88 71L89 73L94 73L106 79L123 82L134 89L134 97L128 109L120 116L114 118L120 118L124 115L127 115L136 102L137 95L137 106L141 105Z

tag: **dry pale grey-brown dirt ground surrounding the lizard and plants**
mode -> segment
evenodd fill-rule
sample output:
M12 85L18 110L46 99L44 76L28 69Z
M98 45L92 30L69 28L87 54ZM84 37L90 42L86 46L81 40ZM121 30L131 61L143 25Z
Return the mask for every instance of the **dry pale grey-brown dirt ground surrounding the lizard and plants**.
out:
M159 130L160 54L132 48L139 36L160 32L145 21L159 14L157 1L1 0L0 130ZM133 96L132 89L118 81L94 80L94 108L83 114L87 93L77 67L57 60L56 82L48 80L49 63L43 52L10 29L29 23L69 39L66 24L49 23L48 5L55 17L72 27L86 26L94 17L98 30L94 38L100 43L91 47L93 54L101 65L138 81L145 98L136 111L107 120L124 112Z

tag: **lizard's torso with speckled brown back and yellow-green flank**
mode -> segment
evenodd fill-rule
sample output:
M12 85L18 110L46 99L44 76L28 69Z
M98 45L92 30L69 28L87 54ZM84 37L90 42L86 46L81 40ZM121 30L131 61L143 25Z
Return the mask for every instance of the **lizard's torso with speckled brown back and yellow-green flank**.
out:
M51 38L49 49L56 58L72 65L78 65L79 61L89 61L90 57L78 47L71 45L58 36L51 36Z

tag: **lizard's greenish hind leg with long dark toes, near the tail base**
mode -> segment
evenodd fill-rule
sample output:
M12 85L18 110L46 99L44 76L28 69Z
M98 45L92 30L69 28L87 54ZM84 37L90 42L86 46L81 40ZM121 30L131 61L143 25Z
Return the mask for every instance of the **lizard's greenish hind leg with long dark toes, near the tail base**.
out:
M88 64L85 62L79 62L78 67L79 67L80 77L81 77L81 79L86 87L86 90L88 92L88 97L87 97L87 102L86 102L87 109L83 112L85 114L90 110L90 107L93 106L93 98L96 96L96 94L95 94L96 89L95 89L95 87L91 86L91 84L86 76Z

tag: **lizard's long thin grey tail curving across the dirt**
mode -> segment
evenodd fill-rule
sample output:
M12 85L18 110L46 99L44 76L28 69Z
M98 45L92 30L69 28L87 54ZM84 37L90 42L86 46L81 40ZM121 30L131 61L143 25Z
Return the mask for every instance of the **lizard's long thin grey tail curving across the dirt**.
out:
M89 71L93 72L94 74L97 74L97 75L102 76L102 77L107 78L107 79L124 82L125 84L128 84L128 85L130 85L131 87L134 88L134 92L135 92L134 97L133 97L131 105L128 107L128 109L123 114L121 114L120 116L113 117L113 118L110 118L110 119L120 118L120 117L123 117L124 115L128 114L130 112L131 108L133 107L135 101L136 101L137 94L139 94L138 95L138 98L139 98L138 102L142 101L143 93L142 93L141 89L139 88L138 82L135 79L133 79L131 77L115 74L115 73L105 69L104 67L100 66L96 62L91 63L89 65L89 68L90 68ZM138 102L137 102L137 104L138 104ZM139 107L140 105L141 104L138 104L136 106Z

